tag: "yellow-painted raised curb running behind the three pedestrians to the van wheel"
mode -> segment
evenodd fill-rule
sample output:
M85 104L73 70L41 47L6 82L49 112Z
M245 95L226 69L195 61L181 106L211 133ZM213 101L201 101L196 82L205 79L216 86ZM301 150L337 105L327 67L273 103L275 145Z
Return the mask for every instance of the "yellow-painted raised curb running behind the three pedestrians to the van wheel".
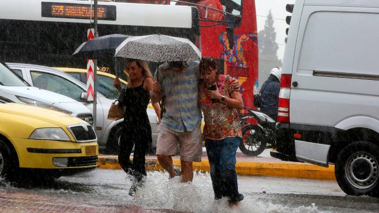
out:
M248 156L237 151L236 173L238 175L264 175L284 178L309 178L322 180L335 180L334 165L328 168L300 162L281 161L270 156L271 149L259 156ZM131 156L131 159L133 156ZM174 166L180 167L180 156L173 156ZM98 167L102 169L121 169L116 155L99 155ZM155 155L146 155L147 170L159 171L163 168L159 165ZM209 162L205 148L203 147L202 161L194 162L193 169L200 172L209 172Z

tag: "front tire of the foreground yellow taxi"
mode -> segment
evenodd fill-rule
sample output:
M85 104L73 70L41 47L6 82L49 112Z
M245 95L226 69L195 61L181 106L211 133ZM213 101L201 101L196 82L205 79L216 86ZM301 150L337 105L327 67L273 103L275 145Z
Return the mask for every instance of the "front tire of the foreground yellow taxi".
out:
M9 181L16 180L19 171L17 155L12 153L14 152L9 145L0 139L0 177Z

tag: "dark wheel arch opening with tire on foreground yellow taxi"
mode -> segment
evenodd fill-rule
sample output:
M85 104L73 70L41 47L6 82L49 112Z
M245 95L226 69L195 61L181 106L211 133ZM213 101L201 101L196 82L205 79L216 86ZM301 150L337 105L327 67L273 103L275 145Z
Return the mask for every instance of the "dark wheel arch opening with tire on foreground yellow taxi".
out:
M3 135L0 135L0 153L3 161L1 178L16 180L20 168L18 155L13 144Z

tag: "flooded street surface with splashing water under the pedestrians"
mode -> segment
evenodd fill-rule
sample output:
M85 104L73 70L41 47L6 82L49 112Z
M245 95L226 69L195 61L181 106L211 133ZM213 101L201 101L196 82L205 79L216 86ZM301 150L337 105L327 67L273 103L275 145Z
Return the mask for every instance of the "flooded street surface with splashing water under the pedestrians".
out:
M230 208L226 198L214 200L209 173L195 173L192 183L168 179L166 172L147 173L133 197L122 170L96 169L18 187L0 181L0 212L378 213L379 207L377 198L347 196L336 181L238 176L245 199Z

